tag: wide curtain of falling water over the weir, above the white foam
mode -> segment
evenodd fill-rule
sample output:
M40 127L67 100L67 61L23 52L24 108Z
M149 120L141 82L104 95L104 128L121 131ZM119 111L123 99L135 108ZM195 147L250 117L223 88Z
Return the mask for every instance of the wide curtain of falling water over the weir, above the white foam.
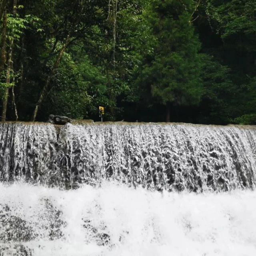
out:
M0 124L2 181L156 190L254 189L256 128L192 124Z

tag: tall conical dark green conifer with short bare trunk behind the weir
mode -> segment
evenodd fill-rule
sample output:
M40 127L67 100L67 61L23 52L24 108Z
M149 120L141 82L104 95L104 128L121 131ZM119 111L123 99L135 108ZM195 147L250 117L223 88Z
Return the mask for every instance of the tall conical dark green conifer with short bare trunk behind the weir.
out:
M150 88L152 96L166 105L198 104L202 95L200 42L192 25L193 1L154 0L146 17L156 38L154 53L145 56L136 84Z

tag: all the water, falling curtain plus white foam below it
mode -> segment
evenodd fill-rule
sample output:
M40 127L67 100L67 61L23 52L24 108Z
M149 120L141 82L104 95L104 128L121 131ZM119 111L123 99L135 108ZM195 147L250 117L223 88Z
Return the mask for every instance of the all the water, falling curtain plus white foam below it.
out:
M256 255L255 172L254 126L0 123L0 256Z

